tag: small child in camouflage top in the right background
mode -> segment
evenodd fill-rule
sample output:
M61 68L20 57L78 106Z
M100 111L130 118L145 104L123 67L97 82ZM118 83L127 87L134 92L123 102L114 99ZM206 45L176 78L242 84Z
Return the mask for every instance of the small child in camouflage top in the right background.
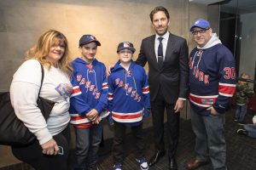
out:
M242 79L249 79L250 76L247 73L241 74ZM248 82L238 81L236 84L236 115L235 121L240 124L244 124L244 117L247 113L248 98L253 96L253 88L250 88Z

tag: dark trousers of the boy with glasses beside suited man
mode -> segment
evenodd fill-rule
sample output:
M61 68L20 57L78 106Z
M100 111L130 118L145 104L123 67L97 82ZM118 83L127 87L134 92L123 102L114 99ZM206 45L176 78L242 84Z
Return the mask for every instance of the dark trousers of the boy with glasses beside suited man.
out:
M114 137L113 137L113 161L114 163L122 163L125 158L125 129L126 126L120 122L114 122ZM144 157L144 139L143 139L143 123L131 127L133 137L136 139L136 158ZM130 141L131 142L131 141Z

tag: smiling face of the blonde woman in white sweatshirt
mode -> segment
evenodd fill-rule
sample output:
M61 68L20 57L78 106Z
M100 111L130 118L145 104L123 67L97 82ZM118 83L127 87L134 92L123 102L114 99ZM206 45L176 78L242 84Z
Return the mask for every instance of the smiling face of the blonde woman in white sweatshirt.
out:
M59 60L65 54L65 43L62 40L55 41L49 48L49 53L46 59L51 63L51 65L57 66Z

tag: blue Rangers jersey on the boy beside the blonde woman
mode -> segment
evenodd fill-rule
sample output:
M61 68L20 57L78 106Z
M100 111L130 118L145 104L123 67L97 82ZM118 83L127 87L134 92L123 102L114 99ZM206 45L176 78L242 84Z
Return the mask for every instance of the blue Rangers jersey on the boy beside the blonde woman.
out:
M108 116L105 112L108 105L106 67L97 59L89 64L84 59L77 58L73 60L72 65L70 123L75 127L90 127L92 123L85 115L92 109L96 109L102 118Z

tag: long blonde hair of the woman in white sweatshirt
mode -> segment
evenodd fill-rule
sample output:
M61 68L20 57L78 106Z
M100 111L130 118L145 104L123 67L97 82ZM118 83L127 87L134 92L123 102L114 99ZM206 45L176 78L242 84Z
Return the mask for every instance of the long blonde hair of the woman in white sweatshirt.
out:
M49 50L53 45L65 46L65 53L58 62L58 66L61 71L71 74L73 68L71 66L71 57L69 56L69 49L67 43L67 37L65 37L60 31L49 30L45 31L39 38L38 43L26 51L26 59L37 59L42 65L48 65L51 67L50 62L46 59L49 54Z

